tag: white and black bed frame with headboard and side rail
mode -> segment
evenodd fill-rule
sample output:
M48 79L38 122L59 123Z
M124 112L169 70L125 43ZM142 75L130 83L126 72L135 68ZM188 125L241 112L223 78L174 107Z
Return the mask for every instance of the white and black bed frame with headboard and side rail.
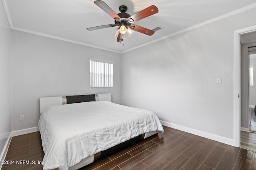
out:
M111 102L111 94L105 93L105 94L88 94L88 95L77 95L77 96L65 96L65 97L57 96L57 97L40 98L40 115L49 106L80 103L80 102L91 102L91 101L109 101L109 102ZM98 159L104 158L108 155L118 152L119 150L122 150L131 145L134 145L134 144L138 143L139 141L146 139L147 137L150 137L156 133L158 133L158 131L144 133L144 134L134 137L128 141L120 143L112 148L98 152L98 153L94 154L93 156L89 156L89 157L85 158L84 160L81 160L78 164L70 167L69 170L77 170L79 168L82 168L88 164L93 163L94 161L96 161ZM54 169L54 170L58 170L58 169Z

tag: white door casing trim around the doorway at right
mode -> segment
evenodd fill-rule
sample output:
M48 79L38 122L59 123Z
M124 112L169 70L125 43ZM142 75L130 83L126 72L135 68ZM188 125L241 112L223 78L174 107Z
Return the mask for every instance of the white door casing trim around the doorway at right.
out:
M238 29L234 31L234 146L240 147L240 129L241 129L241 87L240 87L240 59L241 59L241 44L240 35L256 30L256 25ZM238 98L238 94L240 98Z

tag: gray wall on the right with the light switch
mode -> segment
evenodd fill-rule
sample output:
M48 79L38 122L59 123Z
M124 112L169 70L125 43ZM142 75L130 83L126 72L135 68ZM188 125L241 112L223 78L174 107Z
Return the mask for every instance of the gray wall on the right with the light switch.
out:
M234 31L256 25L255 13L242 12L124 53L122 104L234 141ZM222 84L216 84L219 77Z

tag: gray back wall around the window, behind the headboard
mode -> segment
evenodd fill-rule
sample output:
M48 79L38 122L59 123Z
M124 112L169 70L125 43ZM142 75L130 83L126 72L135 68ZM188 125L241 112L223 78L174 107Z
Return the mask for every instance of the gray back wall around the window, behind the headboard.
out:
M90 88L90 58L114 62L114 87ZM118 53L12 30L12 131L37 126L40 97L111 93L120 104L120 66Z

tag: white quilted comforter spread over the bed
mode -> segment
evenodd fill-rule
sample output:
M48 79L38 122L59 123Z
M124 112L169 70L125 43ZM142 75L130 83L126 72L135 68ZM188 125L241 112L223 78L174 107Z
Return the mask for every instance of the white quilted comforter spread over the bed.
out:
M82 159L150 131L163 131L152 111L112 102L51 106L38 122L44 170L68 170Z

